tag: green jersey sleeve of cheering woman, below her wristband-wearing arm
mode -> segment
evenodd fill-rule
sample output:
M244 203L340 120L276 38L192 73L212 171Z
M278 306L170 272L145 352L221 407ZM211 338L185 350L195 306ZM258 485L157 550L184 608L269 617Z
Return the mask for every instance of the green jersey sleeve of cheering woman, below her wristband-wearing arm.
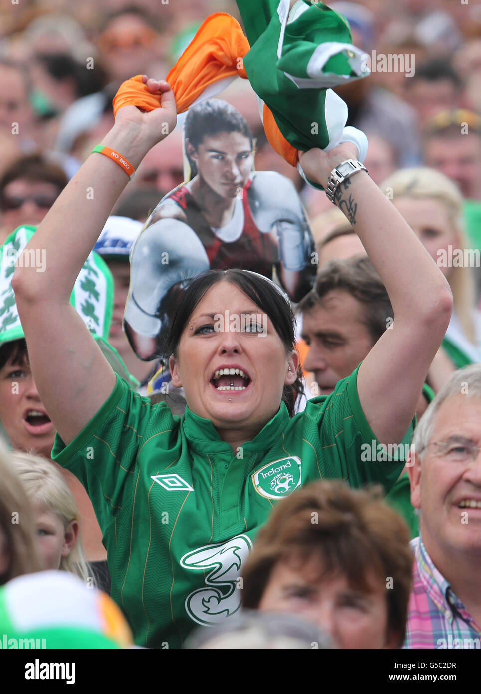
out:
M148 437L154 407L156 412L164 408L171 418L164 403L152 405L117 376L112 394L76 439L65 446L55 436L52 459L85 486L104 534L132 496L137 455Z

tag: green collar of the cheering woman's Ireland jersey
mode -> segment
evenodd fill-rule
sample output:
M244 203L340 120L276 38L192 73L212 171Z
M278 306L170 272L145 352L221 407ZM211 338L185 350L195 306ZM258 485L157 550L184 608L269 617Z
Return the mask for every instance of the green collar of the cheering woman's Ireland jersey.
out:
M252 441L243 444L245 451L268 450L274 446L279 438L280 432L286 428L286 423L290 420L288 409L285 403L281 403L279 411L263 427ZM212 453L232 452L231 447L220 439L210 419L194 414L189 407L186 407L182 421L184 434L186 435L189 446L202 452L209 450Z

